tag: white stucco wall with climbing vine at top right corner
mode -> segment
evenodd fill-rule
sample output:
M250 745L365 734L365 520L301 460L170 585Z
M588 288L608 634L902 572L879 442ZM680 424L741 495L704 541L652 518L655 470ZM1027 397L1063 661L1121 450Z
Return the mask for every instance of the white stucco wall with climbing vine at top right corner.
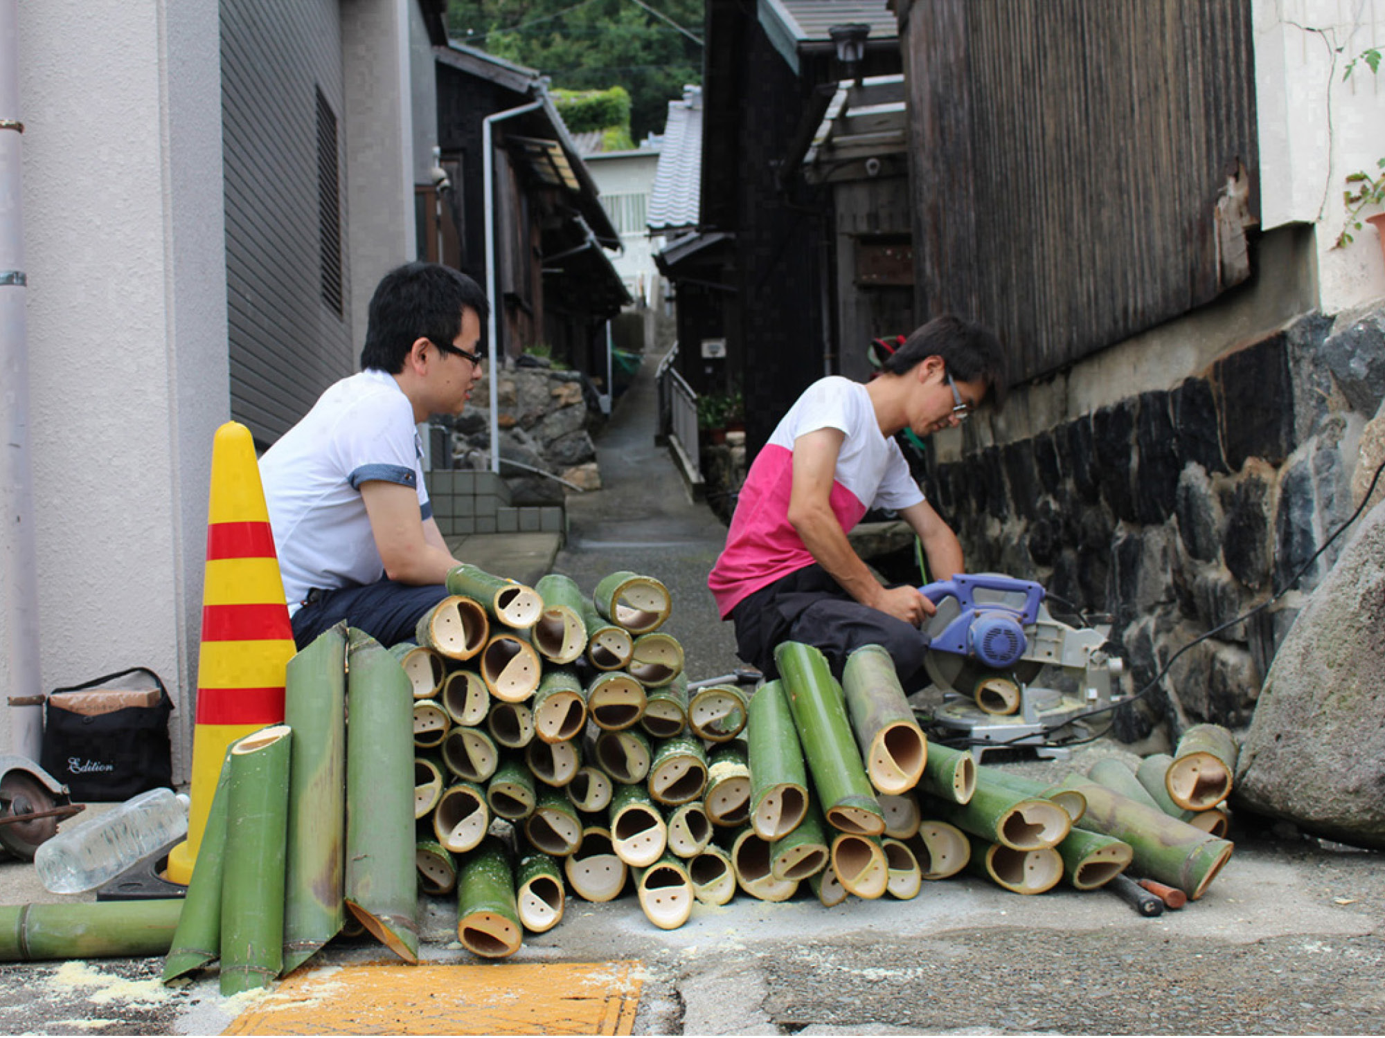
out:
M1345 177L1378 173L1385 156L1385 68L1361 51L1385 48L1385 4L1378 0L1255 0L1260 213L1266 230L1316 224L1319 304L1325 313L1385 296L1385 260L1367 224L1334 248L1346 223Z

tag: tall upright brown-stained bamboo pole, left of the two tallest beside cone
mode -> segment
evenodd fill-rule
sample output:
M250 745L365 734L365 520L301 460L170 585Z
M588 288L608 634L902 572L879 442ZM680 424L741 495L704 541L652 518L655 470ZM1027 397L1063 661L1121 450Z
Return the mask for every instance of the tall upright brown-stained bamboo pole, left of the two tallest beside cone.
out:
M284 973L289 973L346 920L345 624L323 631L288 662L284 724L294 729L284 873Z

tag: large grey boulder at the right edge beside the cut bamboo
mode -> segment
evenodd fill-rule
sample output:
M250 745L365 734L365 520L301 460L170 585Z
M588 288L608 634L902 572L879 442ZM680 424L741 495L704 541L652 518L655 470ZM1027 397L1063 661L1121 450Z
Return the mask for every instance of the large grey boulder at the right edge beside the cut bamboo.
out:
M1361 520L1274 656L1234 800L1385 848L1385 504Z

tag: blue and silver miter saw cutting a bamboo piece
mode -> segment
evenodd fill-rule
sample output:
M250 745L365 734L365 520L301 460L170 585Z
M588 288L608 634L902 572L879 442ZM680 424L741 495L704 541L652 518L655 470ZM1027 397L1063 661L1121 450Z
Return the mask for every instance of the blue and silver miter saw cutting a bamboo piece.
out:
M1108 627L1054 620L1032 580L958 573L920 588L938 612L924 621L924 668L943 693L932 711L943 739L965 739L976 760L986 750L1026 746L1066 757L1054 734L1125 702L1123 663L1105 650ZM1040 682L1050 682L1047 688ZM1068 739L1073 740L1073 739Z

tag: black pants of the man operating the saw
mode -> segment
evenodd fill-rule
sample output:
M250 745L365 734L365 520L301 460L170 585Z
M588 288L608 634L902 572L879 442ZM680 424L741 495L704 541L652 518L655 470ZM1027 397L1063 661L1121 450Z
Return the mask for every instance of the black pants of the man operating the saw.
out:
M737 655L766 677L778 675L774 646L794 641L821 649L838 678L852 649L881 645L895 660L906 692L917 692L929 681L924 671L928 637L903 620L863 606L816 563L742 598L731 620Z

